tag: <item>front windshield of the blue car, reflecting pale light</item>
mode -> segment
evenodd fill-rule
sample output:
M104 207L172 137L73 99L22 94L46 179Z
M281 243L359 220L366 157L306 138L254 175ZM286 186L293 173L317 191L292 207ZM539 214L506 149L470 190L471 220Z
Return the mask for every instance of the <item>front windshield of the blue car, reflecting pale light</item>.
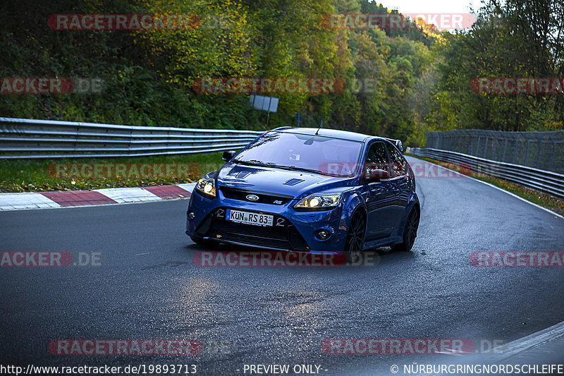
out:
M269 132L240 152L234 162L348 177L355 174L362 145L319 135Z

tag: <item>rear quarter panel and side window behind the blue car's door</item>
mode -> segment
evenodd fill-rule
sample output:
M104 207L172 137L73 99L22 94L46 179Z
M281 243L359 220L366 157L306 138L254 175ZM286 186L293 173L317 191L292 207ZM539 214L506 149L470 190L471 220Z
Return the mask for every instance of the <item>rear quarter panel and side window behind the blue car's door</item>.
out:
M393 145L386 143L388 156L390 157L391 176L388 182L393 192L392 217L394 228L398 228L400 221L405 214L407 200L410 196L410 176L408 174L409 165L403 154Z

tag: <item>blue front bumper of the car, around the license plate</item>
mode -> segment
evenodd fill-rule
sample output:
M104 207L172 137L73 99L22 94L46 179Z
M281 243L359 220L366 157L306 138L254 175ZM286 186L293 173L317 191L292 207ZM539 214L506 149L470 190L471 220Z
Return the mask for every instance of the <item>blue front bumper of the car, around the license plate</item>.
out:
M296 212L290 200L285 205L270 205L225 198L219 190L218 197L205 198L192 193L187 217L186 234L223 243L254 246L274 250L339 254L345 247L348 233L347 212L342 207L323 212ZM273 226L239 224L225 219L227 209L244 210L274 215ZM345 214L345 215L341 215ZM317 231L326 229L331 236L325 240Z

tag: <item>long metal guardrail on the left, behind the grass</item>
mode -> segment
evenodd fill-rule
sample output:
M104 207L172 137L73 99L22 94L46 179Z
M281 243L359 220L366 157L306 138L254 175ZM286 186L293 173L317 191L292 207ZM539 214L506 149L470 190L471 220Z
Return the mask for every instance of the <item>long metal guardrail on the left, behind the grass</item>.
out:
M0 159L221 152L244 147L262 133L0 117Z

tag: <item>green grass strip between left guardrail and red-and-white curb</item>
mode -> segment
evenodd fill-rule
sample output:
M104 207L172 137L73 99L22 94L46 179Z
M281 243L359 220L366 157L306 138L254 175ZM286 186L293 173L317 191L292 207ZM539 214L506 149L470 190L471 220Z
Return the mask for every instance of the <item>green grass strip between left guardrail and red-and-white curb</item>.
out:
M166 184L191 183L209 171L218 169L224 162L221 152L209 154L186 154L154 157L123 158L78 158L78 159L0 159L0 192L40 192L47 190L90 190L97 188L121 188L141 186L161 186ZM72 165L65 165L67 174L56 174L58 164L173 164L170 174L166 166L161 173L135 174L128 168L129 176L123 172L111 174L104 172L97 176L87 176L79 170L71 171ZM176 165L175 165L176 164ZM80 165L79 166L80 169ZM184 169L179 169L183 166ZM176 168L175 168L176 167ZM115 167L112 168L114 170ZM61 166L59 165L59 171ZM78 171L78 174L74 172ZM180 174L178 174L180 171ZM70 172L73 172L72 174Z

